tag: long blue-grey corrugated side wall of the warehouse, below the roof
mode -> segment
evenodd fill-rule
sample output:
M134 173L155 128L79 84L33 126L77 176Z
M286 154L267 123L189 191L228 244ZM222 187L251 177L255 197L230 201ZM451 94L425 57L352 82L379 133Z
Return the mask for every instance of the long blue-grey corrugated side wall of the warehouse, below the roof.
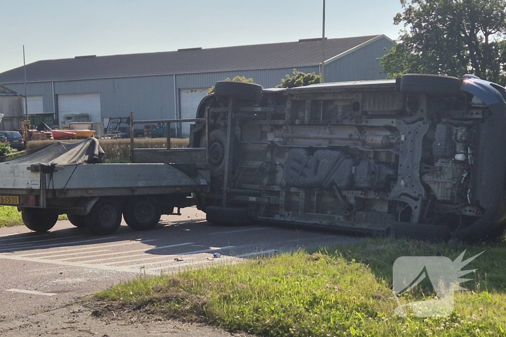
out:
M301 67L297 70L318 73L319 67ZM179 89L211 87L217 81L235 76L251 77L256 83L269 88L278 85L281 78L292 71L292 68L282 68L176 75L176 102L174 75L35 82L28 83L28 95L43 95L44 112L53 113L53 85L55 95L99 92L102 118L128 116L133 110L137 120L167 119L176 118ZM24 92L23 83L8 83L6 86Z

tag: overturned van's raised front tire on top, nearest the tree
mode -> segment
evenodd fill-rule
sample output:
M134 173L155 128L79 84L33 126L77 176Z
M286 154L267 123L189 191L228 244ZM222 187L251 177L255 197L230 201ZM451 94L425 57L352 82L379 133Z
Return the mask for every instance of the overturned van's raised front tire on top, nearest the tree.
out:
M452 76L405 74L401 76L402 92L426 94L457 94L460 79Z

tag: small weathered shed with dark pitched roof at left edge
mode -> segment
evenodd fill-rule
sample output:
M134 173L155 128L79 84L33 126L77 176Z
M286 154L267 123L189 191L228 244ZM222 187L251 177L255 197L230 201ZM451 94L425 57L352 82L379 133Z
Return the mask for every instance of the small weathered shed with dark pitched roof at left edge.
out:
M0 114L4 115L0 122L0 130L11 131L14 128L21 128L23 101L22 94L0 85Z

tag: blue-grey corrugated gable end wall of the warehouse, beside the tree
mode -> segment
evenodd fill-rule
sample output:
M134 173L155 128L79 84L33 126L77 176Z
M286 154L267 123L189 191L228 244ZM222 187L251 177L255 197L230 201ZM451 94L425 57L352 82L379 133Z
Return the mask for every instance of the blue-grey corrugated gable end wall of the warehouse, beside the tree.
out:
M387 54L393 46L389 39L383 37L342 58L326 63L325 82L386 79L387 74L376 59Z

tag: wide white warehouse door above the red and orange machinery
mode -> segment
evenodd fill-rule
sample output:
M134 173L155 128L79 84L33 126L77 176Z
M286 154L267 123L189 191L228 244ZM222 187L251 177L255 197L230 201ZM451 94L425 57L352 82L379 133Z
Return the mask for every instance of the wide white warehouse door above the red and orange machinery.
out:
M81 115L81 116L76 116ZM82 121L88 115L90 122L101 122L100 93L77 93L58 95L58 119L61 124Z

